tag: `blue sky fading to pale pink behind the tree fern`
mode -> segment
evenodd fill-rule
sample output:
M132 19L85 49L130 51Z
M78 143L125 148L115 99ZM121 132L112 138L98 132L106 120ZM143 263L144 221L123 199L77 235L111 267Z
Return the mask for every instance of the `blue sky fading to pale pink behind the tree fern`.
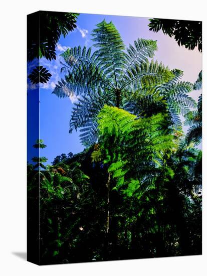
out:
M79 132L74 131L72 134L68 132L70 114L76 97L60 99L52 94L52 91L55 84L61 79L60 69L62 65L60 62L63 59L60 54L67 50L68 47L92 46L90 33L95 28L95 25L104 19L107 22L113 22L126 46L129 43L133 44L134 40L138 38L157 40L158 51L154 60L157 59L158 62L162 62L170 69L183 70L183 81L194 82L197 79L198 73L202 68L201 53L197 49L189 51L184 47L179 47L173 38L163 35L161 31L158 33L149 31L147 18L81 14L77 20L77 28L69 33L66 38L60 38L56 49L57 59L53 61L48 61L45 58L40 59L40 65L47 67L52 74L47 84L40 84L40 99L37 96L38 88L34 89L35 87L29 84L28 109L29 118L31 118L31 120L28 119L28 125L30 124L30 128L28 128L30 132L28 135L29 161L31 157L37 155L35 149L31 149L31 147L35 144L35 140L38 139L38 116L35 115L35 112L37 113L38 111L39 100L40 139L43 139L47 145L47 148L41 150L41 155L48 158L48 164L57 155L68 154L69 152L75 154L83 150L83 146L79 141ZM30 70L30 66L28 69ZM200 91L193 91L190 95L197 100Z

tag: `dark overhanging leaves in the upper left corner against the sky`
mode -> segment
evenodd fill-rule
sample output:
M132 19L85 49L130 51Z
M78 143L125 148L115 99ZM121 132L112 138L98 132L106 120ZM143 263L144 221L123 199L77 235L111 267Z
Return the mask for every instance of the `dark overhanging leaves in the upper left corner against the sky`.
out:
M48 60L56 59L56 46L63 35L76 28L78 14L40 11L28 17L27 51L28 62L35 58L45 57ZM41 24L41 32L39 31ZM46 83L52 75L47 68L37 66L29 75L33 84Z

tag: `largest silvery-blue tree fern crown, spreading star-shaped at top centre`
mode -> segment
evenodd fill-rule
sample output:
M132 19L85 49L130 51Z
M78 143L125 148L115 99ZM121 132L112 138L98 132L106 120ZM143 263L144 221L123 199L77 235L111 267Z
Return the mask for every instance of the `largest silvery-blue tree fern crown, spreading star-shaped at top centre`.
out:
M138 39L134 46L125 46L112 22L97 24L92 32L93 45L68 49L62 54L65 80L56 85L53 93L68 97L81 96L75 103L70 120L70 132L81 128L83 144L97 141L97 115L104 104L122 107L143 87L168 82L174 73L162 64L150 61L157 50L156 41Z

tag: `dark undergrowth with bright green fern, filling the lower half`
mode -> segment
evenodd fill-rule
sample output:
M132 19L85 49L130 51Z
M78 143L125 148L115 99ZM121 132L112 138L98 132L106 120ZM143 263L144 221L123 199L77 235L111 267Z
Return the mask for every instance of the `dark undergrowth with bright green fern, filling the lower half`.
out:
M99 145L45 170L29 165L30 199L40 178L41 263L200 254L201 152L179 148L182 135L159 136L160 114L149 130L148 120L140 128L134 115L104 108L120 123L110 131L101 111Z

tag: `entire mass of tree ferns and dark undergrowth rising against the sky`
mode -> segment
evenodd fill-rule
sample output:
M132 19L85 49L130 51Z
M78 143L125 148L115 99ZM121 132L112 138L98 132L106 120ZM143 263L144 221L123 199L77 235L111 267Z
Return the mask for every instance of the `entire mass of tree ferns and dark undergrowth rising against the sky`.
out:
M69 131L81 131L85 150L28 165L33 203L40 185L41 263L201 254L202 98L189 92L202 73L183 82L153 61L156 41L126 48L112 22L96 27L93 49L62 54L53 91L79 96Z

